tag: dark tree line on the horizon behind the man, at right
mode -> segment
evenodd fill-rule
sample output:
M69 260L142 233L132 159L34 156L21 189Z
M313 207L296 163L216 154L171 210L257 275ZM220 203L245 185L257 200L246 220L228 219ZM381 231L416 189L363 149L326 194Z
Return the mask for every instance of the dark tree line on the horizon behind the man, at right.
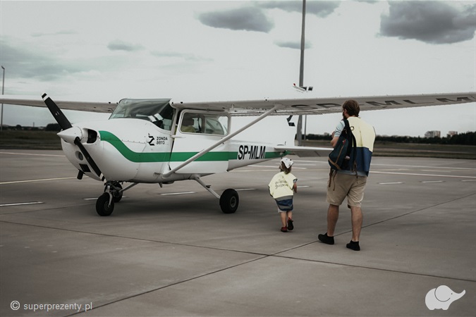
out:
M306 135L310 140L331 140L331 135ZM376 142L396 142L396 143L420 143L420 144L459 144L476 145L476 132L466 132L458 135L448 135L447 137L401 137L393 135L391 137L377 135Z

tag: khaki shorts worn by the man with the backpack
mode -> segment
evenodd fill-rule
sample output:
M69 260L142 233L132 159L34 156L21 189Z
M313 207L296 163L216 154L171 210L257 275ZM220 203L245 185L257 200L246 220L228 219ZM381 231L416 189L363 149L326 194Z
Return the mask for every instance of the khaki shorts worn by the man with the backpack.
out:
M327 202L331 205L341 206L347 197L348 206L360 207L364 199L364 189L367 176L355 176L336 173L331 177L331 186L327 187Z

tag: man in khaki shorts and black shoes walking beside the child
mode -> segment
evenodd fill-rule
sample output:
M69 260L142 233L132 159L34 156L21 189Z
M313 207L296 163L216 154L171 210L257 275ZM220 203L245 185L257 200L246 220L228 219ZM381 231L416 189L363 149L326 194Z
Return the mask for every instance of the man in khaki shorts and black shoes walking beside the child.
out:
M347 205L350 208L352 220L352 240L347 244L347 247L354 251L360 251L359 239L363 219L360 206L364 198L364 189L369 175L375 140L374 128L358 117L359 112L360 106L355 100L348 100L342 105L342 116L348 120L350 130L352 130L357 144L355 164L349 164L346 169L334 171L335 174L329 178L329 186L327 187L327 202L329 203L327 232L324 235L319 235L321 242L334 244L338 209L347 197ZM343 121L338 123L332 134L332 147L336 146L344 126ZM353 161L353 159L353 154L351 154L350 161Z

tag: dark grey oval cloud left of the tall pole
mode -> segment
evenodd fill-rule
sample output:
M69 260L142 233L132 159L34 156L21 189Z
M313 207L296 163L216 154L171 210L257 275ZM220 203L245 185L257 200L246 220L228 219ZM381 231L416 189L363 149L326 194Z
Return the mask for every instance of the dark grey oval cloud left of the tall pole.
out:
M255 7L236 8L227 11L201 13L198 20L209 27L229 30L269 32L274 27L273 21Z

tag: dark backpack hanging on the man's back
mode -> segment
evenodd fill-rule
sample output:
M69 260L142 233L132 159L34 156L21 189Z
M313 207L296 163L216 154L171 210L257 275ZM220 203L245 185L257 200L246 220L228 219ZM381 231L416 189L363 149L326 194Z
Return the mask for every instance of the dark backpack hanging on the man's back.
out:
M331 171L342 170L348 168L348 166L355 165L355 155L357 152L355 137L350 129L348 120L344 119L343 122L345 127L343 128L341 135L338 137L334 150L331 151L329 158L327 159L331 166ZM352 158L352 161L350 161L350 158ZM353 166L353 168L354 167L355 166Z

